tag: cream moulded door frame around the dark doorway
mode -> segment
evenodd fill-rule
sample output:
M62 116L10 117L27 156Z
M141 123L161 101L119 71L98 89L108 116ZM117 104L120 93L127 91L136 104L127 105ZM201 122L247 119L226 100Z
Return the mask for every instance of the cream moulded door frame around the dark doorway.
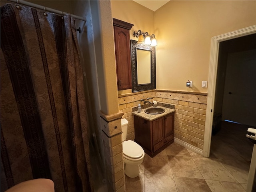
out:
M204 130L204 148L203 148L204 157L210 156L210 147L211 147L211 139L212 139L212 121L213 121L213 112L214 112L220 42L234 39L234 38L239 38L242 36L247 36L254 33L256 33L256 25L212 37L211 53L210 53L209 83L208 83L209 88L208 88L208 95L207 95L206 119L205 119L205 130Z

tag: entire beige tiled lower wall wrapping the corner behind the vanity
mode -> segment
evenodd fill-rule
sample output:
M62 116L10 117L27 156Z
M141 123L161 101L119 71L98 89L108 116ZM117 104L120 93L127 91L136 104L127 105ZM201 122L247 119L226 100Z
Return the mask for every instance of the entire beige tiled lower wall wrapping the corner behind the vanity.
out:
M196 148L203 149L204 127L206 117L206 93L193 93L182 91L154 90L133 94L119 95L119 110L124 112L122 118L128 120L127 140L134 140L134 117L132 108L138 104L144 104L141 99L153 98L162 103L173 104L174 114L174 138L178 138Z

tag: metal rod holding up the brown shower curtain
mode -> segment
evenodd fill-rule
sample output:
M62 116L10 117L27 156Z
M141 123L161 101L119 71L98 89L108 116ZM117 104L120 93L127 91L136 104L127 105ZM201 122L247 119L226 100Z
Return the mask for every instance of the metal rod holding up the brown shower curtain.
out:
M52 13L56 13L56 14L60 14L60 15L69 14L69 13L66 13L66 12L62 12L62 11L59 11L59 10L56 10L56 9L48 8L48 7L45 7L45 6L42 6L42 5L30 3L30 2L27 2L27 1L23 1L23 0L8 0L8 1L16 2L17 4L22 4L22 5L26 5L26 6L29 6L29 7L34 7L34 8L37 8L37 9L41 9L41 10L44 10L44 11L48 11L48 12L52 12ZM69 15L72 16L75 19L79 19L79 20L82 20L82 21L86 22L86 18L77 16L77 15L72 15L72 14L69 14Z

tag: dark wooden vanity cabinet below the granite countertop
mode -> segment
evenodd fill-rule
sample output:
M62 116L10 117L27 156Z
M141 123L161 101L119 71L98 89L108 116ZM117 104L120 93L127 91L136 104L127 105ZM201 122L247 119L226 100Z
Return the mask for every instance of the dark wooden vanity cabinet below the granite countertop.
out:
M151 157L156 156L174 142L173 132L174 113L154 121L134 116L135 142Z

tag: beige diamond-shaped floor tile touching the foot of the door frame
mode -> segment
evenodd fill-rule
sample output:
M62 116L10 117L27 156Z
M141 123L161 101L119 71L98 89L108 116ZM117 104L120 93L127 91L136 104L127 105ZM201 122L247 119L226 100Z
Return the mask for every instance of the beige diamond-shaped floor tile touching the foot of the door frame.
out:
M236 182L236 179L217 159L193 158L204 179Z

